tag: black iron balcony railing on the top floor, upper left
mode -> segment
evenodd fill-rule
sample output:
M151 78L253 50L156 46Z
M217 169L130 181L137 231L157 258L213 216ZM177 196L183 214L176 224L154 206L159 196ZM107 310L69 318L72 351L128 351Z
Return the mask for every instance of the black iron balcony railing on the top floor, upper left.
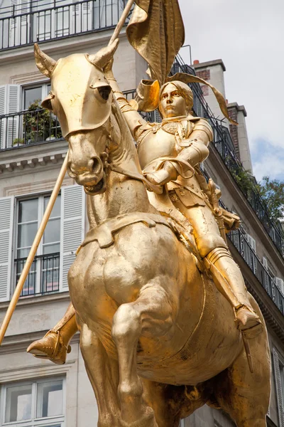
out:
M125 0L34 0L0 9L0 51L116 26Z

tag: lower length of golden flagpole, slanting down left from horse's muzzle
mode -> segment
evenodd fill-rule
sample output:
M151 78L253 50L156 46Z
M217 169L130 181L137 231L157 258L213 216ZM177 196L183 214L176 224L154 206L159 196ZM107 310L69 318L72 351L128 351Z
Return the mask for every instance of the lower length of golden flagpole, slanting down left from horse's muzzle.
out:
M21 291L23 290L23 285L26 282L26 278L28 276L28 272L29 272L29 270L31 268L31 264L33 263L33 259L35 258L35 253L38 250L38 245L40 244L40 240L43 237L43 233L45 231L46 224L48 223L48 219L50 217L51 211L53 210L53 206L55 204L55 200L56 200L56 198L58 196L58 193L60 191L62 181L64 179L64 176L65 176L66 172L67 172L67 162L68 162L68 152L66 154L65 160L64 160L64 162L62 164L62 167L60 169L60 173L58 175L58 179L57 179L57 181L55 183L53 192L52 192L52 194L50 196L50 200L48 202L48 206L45 209L45 213L43 215L43 219L42 219L42 221L40 223L40 226L38 228L38 232L35 235L35 240L33 241L33 245L31 246L31 250L30 250L30 253L28 254L28 258L26 260L26 263L25 263L25 265L23 267L23 271L22 271L21 276L20 276L20 278L18 280L18 283L16 285L16 290L13 293L13 297L11 299L11 302L9 304L8 310L6 312L6 315L4 317L2 325L0 327L0 345L1 345L2 341L3 341L3 339L4 339L4 335L6 334L6 330L7 330L8 326L9 326L11 317L13 315L13 312L14 312L15 308L16 308L16 304L18 302L18 298L21 295Z

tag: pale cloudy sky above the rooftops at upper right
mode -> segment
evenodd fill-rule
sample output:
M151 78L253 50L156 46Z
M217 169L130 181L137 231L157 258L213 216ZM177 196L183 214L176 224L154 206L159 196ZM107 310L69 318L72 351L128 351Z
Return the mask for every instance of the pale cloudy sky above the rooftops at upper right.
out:
M253 174L284 180L284 0L179 3L192 60L222 59L226 99L246 108Z

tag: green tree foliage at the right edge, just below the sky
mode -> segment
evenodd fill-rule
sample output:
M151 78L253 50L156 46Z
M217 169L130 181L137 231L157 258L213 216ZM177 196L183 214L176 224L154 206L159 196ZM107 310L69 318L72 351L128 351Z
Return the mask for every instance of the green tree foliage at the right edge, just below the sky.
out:
M258 183L258 191L273 221L284 219L284 181L263 176L262 181Z

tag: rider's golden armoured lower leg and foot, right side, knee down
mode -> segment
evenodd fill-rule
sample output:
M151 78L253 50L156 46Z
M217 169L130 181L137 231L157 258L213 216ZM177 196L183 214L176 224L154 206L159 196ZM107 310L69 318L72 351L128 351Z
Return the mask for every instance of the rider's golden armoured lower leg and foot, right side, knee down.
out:
M262 330L261 320L251 307L241 270L231 254L226 248L216 248L206 259L215 285L234 308L238 329L246 338L256 337Z

